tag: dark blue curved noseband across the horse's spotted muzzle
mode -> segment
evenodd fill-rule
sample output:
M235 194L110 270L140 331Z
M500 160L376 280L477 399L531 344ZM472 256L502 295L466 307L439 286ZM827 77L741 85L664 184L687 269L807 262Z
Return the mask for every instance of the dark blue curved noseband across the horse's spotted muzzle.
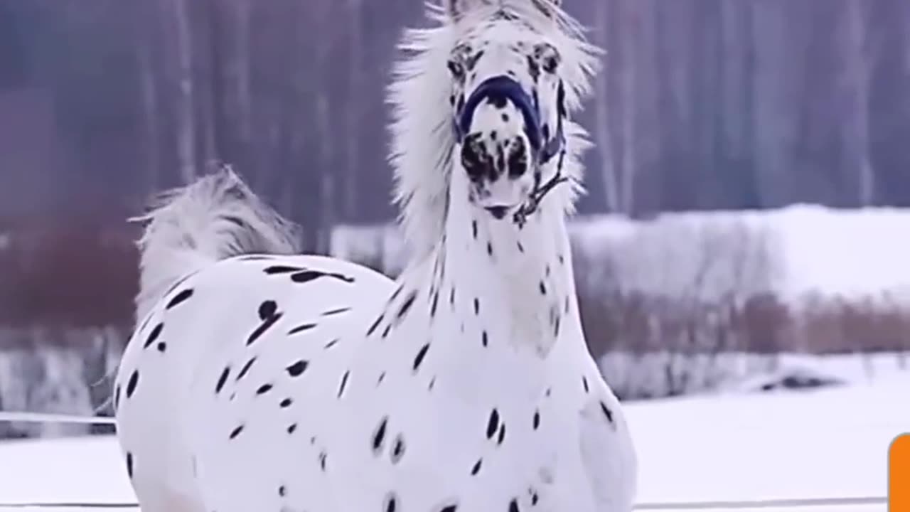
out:
M468 97L455 121L455 134L459 142L468 133L470 123L474 118L474 111L480 106L480 102L494 96L509 99L513 105L521 110L521 116L524 118L524 133L531 143L531 149L537 156L539 164L542 165L549 162L561 152L565 145L565 138L562 134L562 118L557 121L556 132L552 138L543 140L540 106L538 105L537 97L532 100L528 93L521 88L521 84L505 75L487 78Z

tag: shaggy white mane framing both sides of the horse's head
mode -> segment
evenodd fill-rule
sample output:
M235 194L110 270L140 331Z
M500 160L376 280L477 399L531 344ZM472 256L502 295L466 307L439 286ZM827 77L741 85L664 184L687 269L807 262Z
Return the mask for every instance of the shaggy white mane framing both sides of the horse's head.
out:
M430 28L406 29L398 49L404 55L392 67L387 89L392 107L391 150L394 169L394 202L399 206L399 223L412 256L432 251L440 240L448 210L451 153L455 133L449 104L450 76L445 66L450 50L460 36L460 23L471 25L498 11L518 15L559 48L561 76L566 86L569 112L581 108L581 100L591 92L591 78L598 71L602 50L589 44L583 29L559 6L531 0L488 0L476 6L458 23L440 5L427 4L426 16L437 24ZM559 198L566 213L584 189L581 153L591 147L588 133L581 125L565 120L566 156L563 173L571 187L551 192Z

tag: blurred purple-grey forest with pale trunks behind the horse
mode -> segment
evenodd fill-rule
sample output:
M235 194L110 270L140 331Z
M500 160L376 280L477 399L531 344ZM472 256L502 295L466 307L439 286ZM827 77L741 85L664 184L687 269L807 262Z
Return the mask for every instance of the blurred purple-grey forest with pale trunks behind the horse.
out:
M581 119L596 143L582 212L910 203L910 3L566 5L607 50ZM136 210L218 160L302 223L310 250L336 223L389 220L383 89L422 10L0 0L0 98L44 95L62 161L46 171L56 199L33 202Z

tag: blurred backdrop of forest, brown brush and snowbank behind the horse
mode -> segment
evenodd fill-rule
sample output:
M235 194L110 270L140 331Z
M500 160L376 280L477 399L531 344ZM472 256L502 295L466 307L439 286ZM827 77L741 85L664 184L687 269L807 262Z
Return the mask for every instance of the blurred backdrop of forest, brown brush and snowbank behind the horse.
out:
M567 0L608 49L571 236L630 402L875 382L910 350L910 2ZM0 0L0 410L109 414L136 226L218 160L394 275L383 87L420 0ZM0 423L0 437L109 432Z

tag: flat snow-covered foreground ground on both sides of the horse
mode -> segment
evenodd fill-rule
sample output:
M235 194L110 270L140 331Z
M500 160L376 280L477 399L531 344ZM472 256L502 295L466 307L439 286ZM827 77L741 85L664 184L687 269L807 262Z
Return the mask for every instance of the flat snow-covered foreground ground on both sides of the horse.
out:
M910 377L893 374L818 391L628 404L641 464L639 501L651 508L667 502L885 497L888 445L910 432L908 393ZM111 437L0 444L0 503L134 500ZM885 508L784 504L762 510Z

